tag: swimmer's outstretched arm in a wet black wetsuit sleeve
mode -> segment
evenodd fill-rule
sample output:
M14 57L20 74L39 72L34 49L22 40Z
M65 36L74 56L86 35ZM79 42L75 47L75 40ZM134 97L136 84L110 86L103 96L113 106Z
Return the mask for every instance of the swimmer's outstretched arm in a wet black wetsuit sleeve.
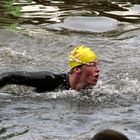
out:
M46 74L49 72L5 72L0 74L0 87L8 84L17 84L38 87L43 86Z

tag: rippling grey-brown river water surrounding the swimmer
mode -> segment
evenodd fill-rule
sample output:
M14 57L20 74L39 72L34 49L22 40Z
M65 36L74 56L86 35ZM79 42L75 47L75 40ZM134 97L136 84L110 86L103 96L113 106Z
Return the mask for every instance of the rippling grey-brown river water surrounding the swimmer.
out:
M86 140L102 129L140 140L139 0L0 2L0 72L67 72L68 52L91 46L100 80L90 97L73 90L0 89L1 140Z

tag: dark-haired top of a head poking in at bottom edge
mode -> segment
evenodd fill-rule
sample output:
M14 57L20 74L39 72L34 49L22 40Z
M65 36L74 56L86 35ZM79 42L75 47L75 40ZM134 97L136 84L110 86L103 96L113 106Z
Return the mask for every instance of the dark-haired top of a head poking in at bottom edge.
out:
M96 133L91 140L129 140L129 139L121 132L106 129Z

